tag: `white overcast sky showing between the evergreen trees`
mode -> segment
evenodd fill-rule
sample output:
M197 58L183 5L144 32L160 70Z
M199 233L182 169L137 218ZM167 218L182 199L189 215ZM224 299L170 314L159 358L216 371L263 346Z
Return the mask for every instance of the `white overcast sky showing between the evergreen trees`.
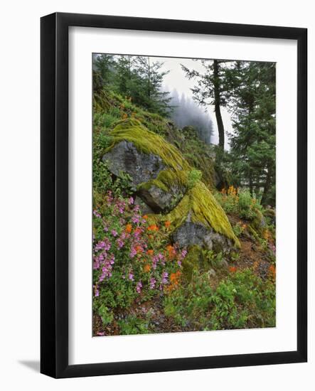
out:
M163 68L161 68L162 70L170 70L169 74L164 77L165 90L169 90L169 92L172 92L175 89L177 90L179 97L181 97L182 94L186 95L187 97L193 97L193 94L191 93L191 88L196 83L196 80L188 80L188 78L185 77L185 73L181 69L181 64L185 65L188 69L195 69L198 70L198 72L203 73L204 68L203 65L201 65L201 61L191 60L188 58L161 57L154 57L154 60L161 61L162 63L164 63ZM209 106L208 113L213 122L213 136L211 137L211 142L213 144L218 144L218 127L217 122L215 120L213 106ZM221 114L225 128L225 149L228 149L228 136L226 132L233 132L232 122L230 119L230 114L224 107L221 107Z

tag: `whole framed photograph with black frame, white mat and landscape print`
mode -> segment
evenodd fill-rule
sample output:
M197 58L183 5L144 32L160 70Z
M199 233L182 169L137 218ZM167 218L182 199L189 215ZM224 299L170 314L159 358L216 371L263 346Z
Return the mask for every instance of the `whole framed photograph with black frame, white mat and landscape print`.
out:
M307 360L305 28L41 18L41 373Z

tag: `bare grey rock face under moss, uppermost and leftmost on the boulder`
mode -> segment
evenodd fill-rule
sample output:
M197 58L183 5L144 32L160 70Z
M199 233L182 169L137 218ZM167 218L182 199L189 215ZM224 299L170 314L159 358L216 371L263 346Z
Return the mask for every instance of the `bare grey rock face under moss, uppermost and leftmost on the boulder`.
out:
M129 141L119 142L102 159L107 162L109 170L114 175L120 176L121 172L128 173L134 188L139 183L156 178L165 168L160 156L139 152Z

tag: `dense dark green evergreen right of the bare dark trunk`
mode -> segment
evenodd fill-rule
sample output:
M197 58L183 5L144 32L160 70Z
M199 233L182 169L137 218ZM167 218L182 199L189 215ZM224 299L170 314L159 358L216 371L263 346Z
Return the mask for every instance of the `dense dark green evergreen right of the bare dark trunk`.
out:
M262 191L262 204L274 205L275 65L237 62L229 70L232 171L251 193Z

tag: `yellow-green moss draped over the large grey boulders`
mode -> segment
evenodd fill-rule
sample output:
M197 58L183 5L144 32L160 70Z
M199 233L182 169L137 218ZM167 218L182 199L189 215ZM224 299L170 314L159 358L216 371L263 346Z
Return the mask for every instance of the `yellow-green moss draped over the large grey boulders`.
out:
M126 140L132 142L139 151L145 154L160 156L168 169L161 171L159 176L149 183L141 186L155 184L164 191L167 191L174 183L188 185L188 175L192 167L176 146L169 144L163 137L154 134L146 129L137 119L126 119L117 124L110 132L114 145ZM188 187L188 186L187 186ZM173 208L168 215L152 215L153 219L169 220L173 229L180 226L190 214L193 223L201 223L205 227L212 227L215 232L225 235L233 240L237 247L240 242L235 236L225 212L213 197L210 190L200 180L196 180L192 188L189 188L176 208Z

